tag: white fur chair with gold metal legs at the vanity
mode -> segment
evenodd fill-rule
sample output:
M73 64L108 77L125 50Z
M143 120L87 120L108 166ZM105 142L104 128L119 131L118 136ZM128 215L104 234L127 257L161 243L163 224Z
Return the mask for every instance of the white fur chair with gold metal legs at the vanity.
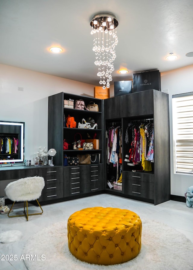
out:
M8 217L22 217L26 216L28 221L29 215L41 215L43 213L42 207L40 206L40 203L38 202L38 198L40 198L43 187L44 187L44 178L40 176L34 176L34 177L26 177L21 178L17 181L11 182L7 185L5 188L5 193L8 196L8 199L15 202L24 202L24 213L25 215L9 215L11 213L11 209L14 206L14 203L11 206L10 211L8 212ZM35 214L28 214L28 201L36 200L38 205L40 206L42 212L35 213ZM25 212L25 203L26 203L26 210Z

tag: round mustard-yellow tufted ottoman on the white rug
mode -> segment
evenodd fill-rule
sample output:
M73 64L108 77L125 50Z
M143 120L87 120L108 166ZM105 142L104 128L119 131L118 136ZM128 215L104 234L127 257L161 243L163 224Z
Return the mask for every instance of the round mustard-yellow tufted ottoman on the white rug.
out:
M141 250L142 223L126 209L91 207L68 218L68 247L77 259L103 265L127 262Z

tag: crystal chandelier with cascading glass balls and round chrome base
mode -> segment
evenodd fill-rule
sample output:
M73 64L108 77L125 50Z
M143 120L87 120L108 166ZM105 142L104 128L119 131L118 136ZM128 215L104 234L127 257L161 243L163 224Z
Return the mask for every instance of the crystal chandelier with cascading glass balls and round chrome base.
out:
M115 29L118 24L116 17L110 13L96 14L90 22L93 28L91 35L94 35L93 51L96 55L94 64L98 66L97 76L100 77L99 83L103 84L103 89L109 88L112 81L113 61L116 58L115 46L118 43Z

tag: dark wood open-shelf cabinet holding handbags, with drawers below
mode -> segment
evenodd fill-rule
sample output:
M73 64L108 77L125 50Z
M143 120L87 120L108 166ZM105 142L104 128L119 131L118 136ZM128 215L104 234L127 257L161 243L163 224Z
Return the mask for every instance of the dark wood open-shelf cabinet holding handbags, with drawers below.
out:
M64 100L83 99L85 106L90 102L98 105L98 111L78 110L64 107ZM64 155L76 157L77 155L100 154L99 164L91 163L89 165L64 166L63 167L63 198L72 198L74 196L83 197L84 194L98 193L105 189L103 176L103 145L104 145L104 118L103 118L103 100L92 97L78 96L70 93L58 93L48 98L48 149L54 148L57 153L53 158L53 163L63 166ZM76 127L66 127L64 119L70 115L76 121ZM64 118L65 117L65 118ZM82 119L93 118L97 123L97 129L78 128L78 123ZM78 134L77 134L78 133ZM78 150L73 149L74 141L79 138L83 140L99 140L99 149ZM68 143L68 150L63 150L63 141ZM63 184L63 186L62 186ZM59 195L60 196L60 195Z

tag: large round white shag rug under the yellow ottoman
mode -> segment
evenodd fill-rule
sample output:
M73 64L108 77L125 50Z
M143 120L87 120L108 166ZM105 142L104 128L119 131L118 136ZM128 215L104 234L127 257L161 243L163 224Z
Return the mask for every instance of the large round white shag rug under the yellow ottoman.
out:
M155 221L142 220L142 246L138 256L116 265L81 262L68 250L67 221L53 224L33 235L23 254L38 255L27 260L28 270L192 270L193 243L184 234ZM43 256L44 255L44 256ZM42 257L41 257L42 256Z

